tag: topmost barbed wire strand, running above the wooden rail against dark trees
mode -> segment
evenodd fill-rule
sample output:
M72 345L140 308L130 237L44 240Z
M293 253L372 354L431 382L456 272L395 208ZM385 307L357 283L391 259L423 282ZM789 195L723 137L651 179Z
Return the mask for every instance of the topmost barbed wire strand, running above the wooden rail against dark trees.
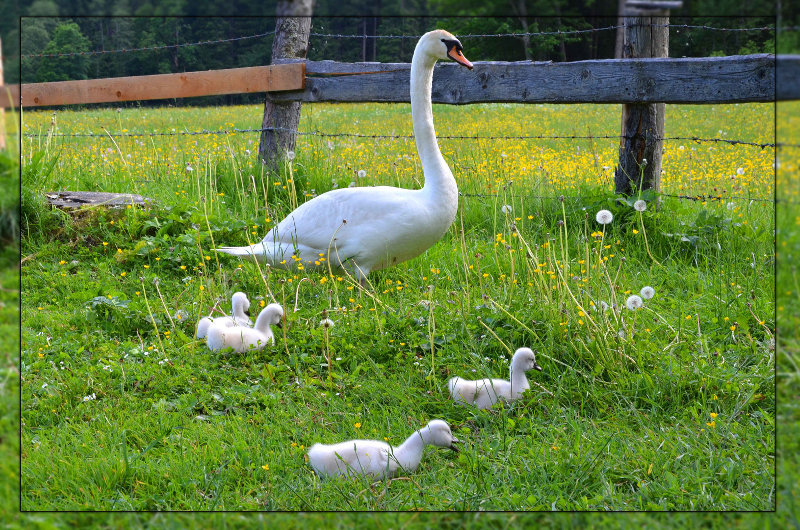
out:
M717 31L766 31L766 30L774 30L774 27L750 27L750 28L718 28L714 26L692 26L690 24L642 24L642 26L650 26L650 27L671 27L671 28L685 28L685 29L701 29L701 30L717 30ZM625 26L606 26L606 27L599 27L599 28L589 28L586 30L558 30L558 31L526 31L520 33L493 33L493 34L466 34L466 35L456 35L457 38L491 38L491 37L544 37L546 35L571 35L571 34L585 34L585 33L595 33L597 31L606 31L606 30L617 30L619 28L623 28ZM795 30L794 27L790 28L781 28L783 31L791 31ZM24 55L14 55L10 57L21 57L21 58L53 58L53 57L73 57L75 55L102 55L102 54L120 54L120 53L127 53L127 52L134 52L134 51L154 51L154 50L168 50L171 48L182 48L185 46L203 46L206 44L222 44L224 42L236 42L236 41L243 41L250 38L260 38L266 37L268 35L274 34L275 31L267 31L266 33L259 33L253 35L242 35L241 37L232 37L232 38L218 38L217 40L208 40L208 41L198 41L198 42L184 42L182 44L166 44L164 46L142 46L142 47L132 47L132 48L122 48L119 50L93 50L93 51L73 51L73 52L65 52L61 54L24 54ZM343 35L343 34L326 34L326 33L316 33L310 32L310 37L323 37L323 38L421 38L422 35Z

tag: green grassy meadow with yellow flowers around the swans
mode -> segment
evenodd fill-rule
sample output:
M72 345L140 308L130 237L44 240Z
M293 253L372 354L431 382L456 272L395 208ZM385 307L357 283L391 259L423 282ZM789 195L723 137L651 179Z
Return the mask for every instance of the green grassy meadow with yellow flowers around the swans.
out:
M434 106L439 135L618 135L619 114ZM772 143L774 118L667 106L666 135ZM640 214L614 200L618 139L442 139L465 194L456 222L363 290L214 247L261 239L333 187L421 185L413 139L302 136L273 175L258 133L105 132L260 122L258 106L23 114L22 509L776 508L774 149L666 142L662 192L718 200L645 193ZM409 135L410 108L307 105L301 129ZM58 190L154 204L50 210L42 192ZM628 310L645 286L654 298ZM254 315L282 303L277 344L224 355L193 339L234 291ZM522 346L544 368L524 399L448 399L450 376L507 376ZM316 442L400 444L435 418L466 443L428 448L410 476L320 480L304 458Z

